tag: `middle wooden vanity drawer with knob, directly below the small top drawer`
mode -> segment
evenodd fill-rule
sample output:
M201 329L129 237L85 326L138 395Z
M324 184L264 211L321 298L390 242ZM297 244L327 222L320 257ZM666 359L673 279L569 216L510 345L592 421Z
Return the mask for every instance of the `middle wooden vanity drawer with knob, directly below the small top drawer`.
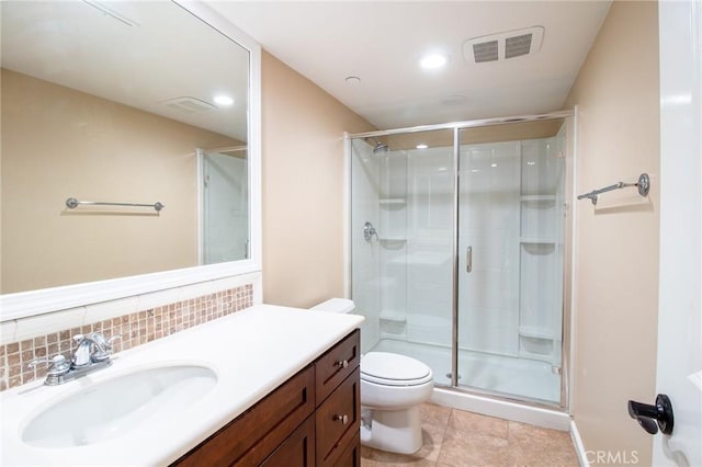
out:
M360 368L317 408L317 465L337 465L361 428ZM358 443L356 443L358 444Z

